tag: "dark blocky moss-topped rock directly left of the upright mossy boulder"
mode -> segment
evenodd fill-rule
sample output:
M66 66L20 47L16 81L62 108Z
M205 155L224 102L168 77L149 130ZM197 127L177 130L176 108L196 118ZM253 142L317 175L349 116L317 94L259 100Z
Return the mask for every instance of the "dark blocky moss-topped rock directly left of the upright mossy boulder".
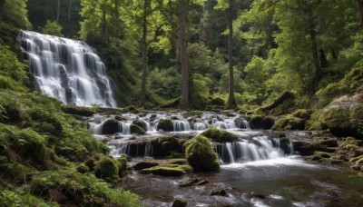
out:
M154 157L165 157L172 153L182 153L183 140L176 137L159 137L152 140Z

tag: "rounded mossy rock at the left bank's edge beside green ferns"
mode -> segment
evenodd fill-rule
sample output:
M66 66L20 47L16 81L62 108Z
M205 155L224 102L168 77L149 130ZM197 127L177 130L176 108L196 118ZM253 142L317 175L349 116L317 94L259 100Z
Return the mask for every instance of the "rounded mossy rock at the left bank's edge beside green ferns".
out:
M99 162L96 163L94 173L99 178L110 178L118 180L119 167L118 163L113 158L104 156Z

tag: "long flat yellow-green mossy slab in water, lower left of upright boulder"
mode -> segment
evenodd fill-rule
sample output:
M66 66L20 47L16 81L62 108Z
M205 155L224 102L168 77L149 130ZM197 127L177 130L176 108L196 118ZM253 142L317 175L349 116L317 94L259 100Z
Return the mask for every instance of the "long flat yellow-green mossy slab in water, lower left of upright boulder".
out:
M191 173L192 168L189 165L167 165L167 166L155 166L152 168L143 169L142 174L154 174L164 177L182 176L186 173Z

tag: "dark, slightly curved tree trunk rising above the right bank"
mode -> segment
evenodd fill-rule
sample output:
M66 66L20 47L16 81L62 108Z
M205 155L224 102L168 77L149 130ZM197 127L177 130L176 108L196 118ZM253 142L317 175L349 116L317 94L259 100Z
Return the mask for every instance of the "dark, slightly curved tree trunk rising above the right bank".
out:
M309 5L308 5L309 6ZM318 81L321 75L321 67L319 64L319 52L318 52L318 44L315 32L315 24L314 24L314 17L312 15L311 7L308 8L308 15L309 15L309 35L311 41L311 54L312 59L315 66L315 73L311 83L311 92L315 93L315 90L318 86Z

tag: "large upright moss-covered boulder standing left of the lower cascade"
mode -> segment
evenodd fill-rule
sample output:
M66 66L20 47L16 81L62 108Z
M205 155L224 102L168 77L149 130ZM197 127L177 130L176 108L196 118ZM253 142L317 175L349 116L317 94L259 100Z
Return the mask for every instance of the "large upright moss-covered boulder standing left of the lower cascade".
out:
M198 135L186 143L185 156L195 171L218 171L218 154L211 147L208 138Z

